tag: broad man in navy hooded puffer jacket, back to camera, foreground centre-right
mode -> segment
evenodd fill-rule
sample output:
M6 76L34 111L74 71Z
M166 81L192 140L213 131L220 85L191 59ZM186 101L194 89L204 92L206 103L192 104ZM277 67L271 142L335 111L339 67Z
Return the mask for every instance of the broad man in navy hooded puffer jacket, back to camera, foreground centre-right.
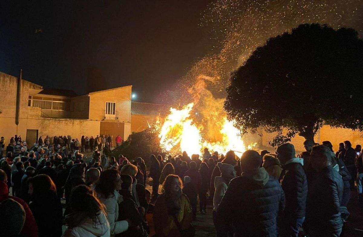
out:
M261 163L257 151L242 154L243 173L231 180L217 210L221 227L226 228L221 236L228 236L230 223L235 237L277 236L277 215L284 210L285 194Z

